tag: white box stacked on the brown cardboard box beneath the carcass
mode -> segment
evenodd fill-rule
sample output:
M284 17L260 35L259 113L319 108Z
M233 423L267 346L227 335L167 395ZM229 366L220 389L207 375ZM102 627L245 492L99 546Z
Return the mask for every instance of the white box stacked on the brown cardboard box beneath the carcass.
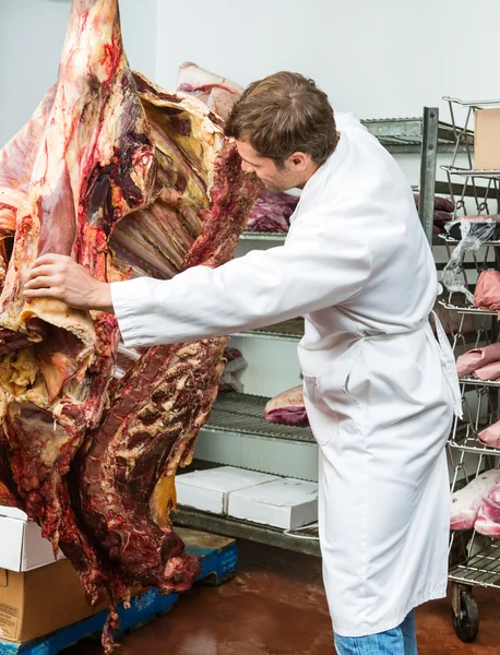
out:
M0 516L0 569L32 571L56 561L52 545L33 521ZM64 559L62 552L57 559Z

